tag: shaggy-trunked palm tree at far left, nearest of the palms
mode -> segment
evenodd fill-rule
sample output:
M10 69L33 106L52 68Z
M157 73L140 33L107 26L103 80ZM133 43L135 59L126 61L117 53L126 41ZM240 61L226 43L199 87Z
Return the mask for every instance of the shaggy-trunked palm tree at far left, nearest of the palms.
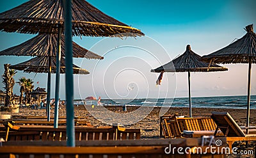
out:
M4 106L10 106L13 104L13 86L15 80L13 76L17 73L15 70L9 69L10 64L4 64L3 84L6 90L6 99Z

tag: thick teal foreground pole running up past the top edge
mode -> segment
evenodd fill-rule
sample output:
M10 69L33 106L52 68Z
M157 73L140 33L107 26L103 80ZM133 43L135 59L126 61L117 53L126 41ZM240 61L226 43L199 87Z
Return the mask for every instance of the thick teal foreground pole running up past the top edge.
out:
M74 127L74 81L72 61L72 14L71 0L64 0L65 12L65 64L66 64L66 99L67 99L67 146L76 146Z

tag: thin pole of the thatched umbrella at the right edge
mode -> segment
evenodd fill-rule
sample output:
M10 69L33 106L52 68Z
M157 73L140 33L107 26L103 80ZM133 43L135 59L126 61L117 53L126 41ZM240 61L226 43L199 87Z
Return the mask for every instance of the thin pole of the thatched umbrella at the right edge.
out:
M249 68L248 68L248 91L247 91L247 117L246 127L249 128L250 123L250 95L251 95L251 69L252 69L252 57L249 57ZM246 129L246 133L249 134L249 129Z

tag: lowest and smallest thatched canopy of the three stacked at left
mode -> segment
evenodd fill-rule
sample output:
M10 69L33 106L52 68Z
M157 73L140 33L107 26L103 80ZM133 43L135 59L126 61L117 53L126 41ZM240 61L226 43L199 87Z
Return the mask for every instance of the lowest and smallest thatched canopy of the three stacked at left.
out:
M52 73L56 73L56 58L48 58L47 56L38 56L28 61L24 61L17 65L11 65L10 68L15 70L23 70L24 72L48 73L48 60L51 60ZM73 65L74 74L90 74L88 70ZM60 73L65 74L65 59L61 58Z

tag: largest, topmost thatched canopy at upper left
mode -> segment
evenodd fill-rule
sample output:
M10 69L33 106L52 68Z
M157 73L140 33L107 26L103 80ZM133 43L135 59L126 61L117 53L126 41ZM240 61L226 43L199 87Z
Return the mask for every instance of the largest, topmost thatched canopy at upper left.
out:
M57 34L58 28L64 28L64 4L61 0L31 0L0 13L1 31ZM84 0L72 0L74 36L111 36L120 33L143 35L139 29L109 17Z

